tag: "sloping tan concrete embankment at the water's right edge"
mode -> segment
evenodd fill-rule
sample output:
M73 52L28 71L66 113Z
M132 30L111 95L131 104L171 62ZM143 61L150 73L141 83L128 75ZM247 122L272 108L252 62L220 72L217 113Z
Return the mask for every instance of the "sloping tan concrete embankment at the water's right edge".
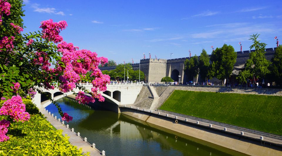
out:
M120 112L128 116L146 121L148 124L157 125L169 130L182 133L215 145L229 148L247 155L282 155L282 148L275 145L264 144L264 142L235 136L229 133L169 119L154 114L140 112L134 109L120 107Z

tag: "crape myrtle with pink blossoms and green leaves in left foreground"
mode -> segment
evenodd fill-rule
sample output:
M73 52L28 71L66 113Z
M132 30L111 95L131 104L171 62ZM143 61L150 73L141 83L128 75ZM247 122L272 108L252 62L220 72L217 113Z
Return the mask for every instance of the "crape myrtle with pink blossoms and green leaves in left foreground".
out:
M108 62L107 58L98 57L90 50L79 50L73 43L63 41L59 33L67 27L66 21L45 20L41 22L41 31L22 34L22 3L22 0L0 0L0 97L6 100L0 108L0 115L11 119L0 121L0 141L9 139L5 134L10 122L29 119L19 92L33 96L35 90L41 92L41 87L56 87L61 92L79 88L82 91L77 94L76 100L89 103L95 98L104 101L99 91L105 91L106 84L110 82L110 77L98 68L99 64ZM55 67L50 68L51 64ZM92 97L84 95L85 88L79 85L89 71L92 71L93 88L87 92ZM62 120L68 122L72 119L62 112L56 101L53 100L53 104Z

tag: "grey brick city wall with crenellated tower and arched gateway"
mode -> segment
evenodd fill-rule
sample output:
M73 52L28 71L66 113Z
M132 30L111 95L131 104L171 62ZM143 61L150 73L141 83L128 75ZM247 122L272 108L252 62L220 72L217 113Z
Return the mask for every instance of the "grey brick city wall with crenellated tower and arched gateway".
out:
M267 48L265 50L265 57L267 60L271 60L273 58L276 48ZM237 59L234 66L239 66L241 64L245 64L246 60L249 59L250 52L254 52L254 50L247 50L243 52L236 52ZM198 56L199 57L199 56ZM161 79L165 76L171 77L174 81L186 83L191 80L194 82L197 81L196 78L191 78L191 76L184 73L184 61L186 59L190 59L189 57L183 57L178 59L141 59L140 60L140 70L144 72L146 82L160 82ZM102 67L101 71L104 70L114 70L116 66L110 67ZM134 70L139 70L139 64L132 64ZM198 82L204 81L203 78L199 75ZM215 85L221 85L221 80L217 78L213 78L210 82Z

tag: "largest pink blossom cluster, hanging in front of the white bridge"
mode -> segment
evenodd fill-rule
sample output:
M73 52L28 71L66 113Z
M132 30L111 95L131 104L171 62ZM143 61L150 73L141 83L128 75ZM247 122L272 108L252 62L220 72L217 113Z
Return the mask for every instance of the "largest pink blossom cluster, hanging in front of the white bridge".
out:
M58 44L58 51L63 54L61 61L65 64L65 68L60 70L63 72L59 79L61 84L59 86L62 92L68 92L75 87L75 83L78 83L80 76L85 76L88 71L93 71L91 76L95 76L93 87L99 88L100 91L107 89L106 84L110 83L110 77L103 75L98 68L99 64L105 64L108 59L105 57L97 57L97 53L90 50L78 50L78 47L73 46L72 43L65 41ZM58 71L58 70L57 70ZM98 90L94 90L93 95L97 95L98 99L103 100L103 97L98 94ZM81 97L84 97L81 95ZM89 98L86 101L92 101ZM94 100L94 99L93 99Z

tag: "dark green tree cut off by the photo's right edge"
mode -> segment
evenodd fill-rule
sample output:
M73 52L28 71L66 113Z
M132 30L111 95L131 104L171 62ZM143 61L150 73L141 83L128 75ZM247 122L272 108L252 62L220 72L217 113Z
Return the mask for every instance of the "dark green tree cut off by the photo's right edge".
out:
M272 65L273 79L277 84L282 84L282 46L276 48L273 65Z

